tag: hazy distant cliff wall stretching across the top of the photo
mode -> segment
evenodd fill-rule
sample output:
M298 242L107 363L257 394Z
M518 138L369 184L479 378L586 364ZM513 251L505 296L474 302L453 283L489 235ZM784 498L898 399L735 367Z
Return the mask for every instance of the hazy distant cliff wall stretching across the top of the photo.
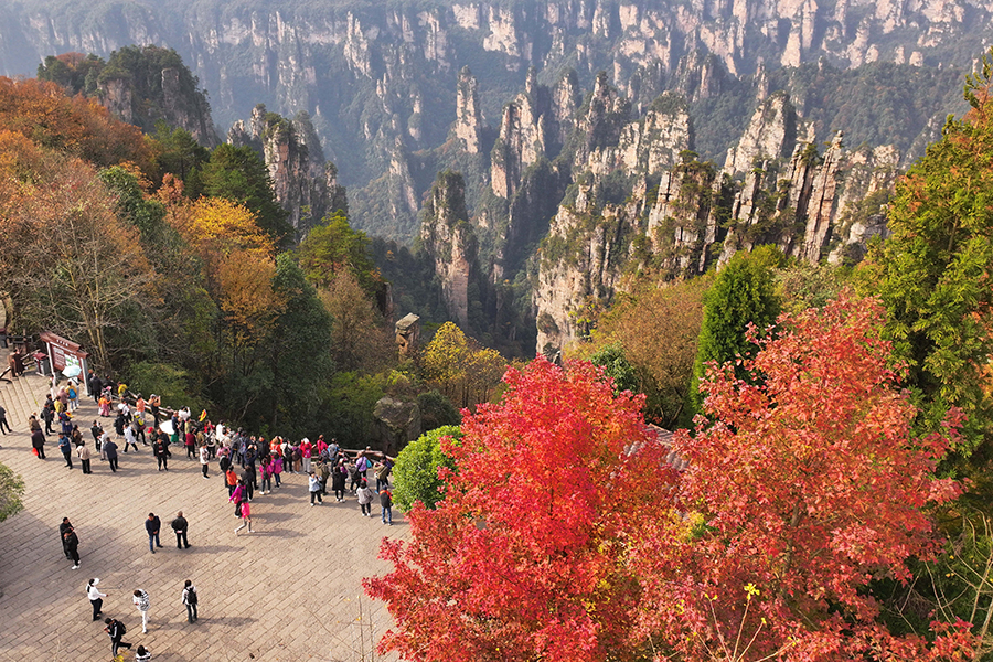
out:
M705 102L736 81L757 78L764 67L822 57L842 67L884 61L969 67L983 50L991 19L993 10L981 0L437 0L388 7L364 0L306 7L289 0L239 6L125 0L72 11L55 0L33 0L4 14L0 73L30 75L45 55L67 51L107 56L131 43L172 46L211 90L222 126L244 118L259 102L287 116L310 113L343 181L359 189L356 203L365 197L356 204L356 221L376 229L387 221L374 196L395 196L389 205L397 210L409 206L404 185L365 190L389 172L397 141L404 154L435 149L448 139L457 114L469 129L457 135L470 153L477 149L471 127L481 126L477 118L490 118L498 128L506 124L509 131L520 122L522 156L541 149L547 154L549 140L564 141L562 130L552 136L554 128L541 118L556 115L558 93L568 97L567 90L552 88L552 114L520 104L517 115L504 117L504 104L527 86L531 67L538 85L572 68L585 88L607 72L640 117L663 89L681 92L690 103ZM478 88L457 106L465 65ZM107 98L122 109L120 92L108 88ZM473 94L477 108L463 103ZM557 113L566 115L573 114ZM698 131L708 130L703 118L694 119ZM818 130L818 140L833 132ZM526 161L524 156L521 166ZM406 168L417 169L409 161ZM414 177L419 201L430 177ZM512 195L512 189L500 191ZM404 223L413 232L410 217Z

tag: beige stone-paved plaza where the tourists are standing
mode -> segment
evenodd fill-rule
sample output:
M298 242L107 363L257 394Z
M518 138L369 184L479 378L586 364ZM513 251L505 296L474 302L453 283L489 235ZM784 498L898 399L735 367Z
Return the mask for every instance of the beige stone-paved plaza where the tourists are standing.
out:
M252 502L256 533L236 537L238 521L216 462L203 480L199 461L174 449L169 472L159 472L150 447L139 445L137 455L120 455L117 473L97 456L93 474L84 476L75 457L74 469L65 467L52 435L47 459L35 458L26 420L41 410L46 391L38 376L0 382L0 406L14 429L0 436L0 462L26 484L24 510L0 523L0 660L109 660L104 623L90 620L90 577L108 594L104 615L122 620L124 640L148 647L156 662L383 660L371 651L371 636L378 640L389 615L381 602L360 599L360 579L387 569L376 559L384 534L407 533L396 512L386 527L378 505L373 519L363 517L354 498L335 503L332 495L311 508L306 477L284 474L282 488ZM92 399L81 402L75 419L93 449L97 409ZM102 420L113 431L113 419ZM192 547L184 551L169 528L180 510L190 521ZM164 547L154 555L145 533L149 512L162 520ZM63 516L79 536L78 570L63 556ZM180 600L184 579L200 594L195 624L186 623ZM148 634L131 604L136 588L151 597Z

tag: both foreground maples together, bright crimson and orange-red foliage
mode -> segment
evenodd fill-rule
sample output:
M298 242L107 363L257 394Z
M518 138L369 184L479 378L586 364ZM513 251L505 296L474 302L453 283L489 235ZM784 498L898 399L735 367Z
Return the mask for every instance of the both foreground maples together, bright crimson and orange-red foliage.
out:
M641 399L588 364L542 359L446 450L438 510L366 579L396 620L383 652L421 661L875 662L963 659L968 623L891 633L874 579L906 580L936 540L925 511L959 425L915 438L883 309L847 295L784 314L740 366L712 366L705 412L673 448ZM739 370L738 374L743 374Z

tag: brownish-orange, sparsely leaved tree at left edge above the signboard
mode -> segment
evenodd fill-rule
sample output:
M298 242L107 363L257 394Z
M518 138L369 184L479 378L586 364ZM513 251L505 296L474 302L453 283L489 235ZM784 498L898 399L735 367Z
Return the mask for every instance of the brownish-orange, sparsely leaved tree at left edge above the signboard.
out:
M158 305L137 229L88 163L10 131L0 152L0 281L20 324L79 339L109 369Z

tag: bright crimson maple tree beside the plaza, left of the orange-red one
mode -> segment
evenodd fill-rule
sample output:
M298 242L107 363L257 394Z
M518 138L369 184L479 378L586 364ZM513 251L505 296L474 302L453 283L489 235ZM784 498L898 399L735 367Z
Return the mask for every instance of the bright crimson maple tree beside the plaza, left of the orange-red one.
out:
M397 629L381 650L424 661L630 656L640 587L621 528L652 516L666 473L641 418L588 363L511 370L462 423L437 510L415 508L395 569L364 580ZM638 452L630 452L637 448ZM660 485L660 482L662 485Z

